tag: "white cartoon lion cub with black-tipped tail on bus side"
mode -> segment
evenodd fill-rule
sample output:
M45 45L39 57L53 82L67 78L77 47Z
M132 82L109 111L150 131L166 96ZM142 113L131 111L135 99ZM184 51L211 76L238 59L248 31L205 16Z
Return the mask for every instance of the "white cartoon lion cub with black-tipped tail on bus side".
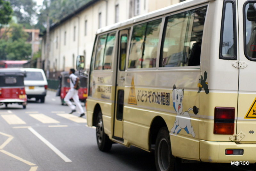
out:
M170 134L171 135L174 134L176 136L181 131L181 129L184 129L188 134L192 134L192 136L195 138L196 135L193 130L193 126L191 126L190 115L188 111L193 110L194 114L197 114L199 112L199 109L196 106L194 106L193 108L189 108L188 111L182 113L183 96L184 96L184 89L180 88L179 90L177 90L176 86L173 85L172 102L177 115L176 115L176 120L173 124Z

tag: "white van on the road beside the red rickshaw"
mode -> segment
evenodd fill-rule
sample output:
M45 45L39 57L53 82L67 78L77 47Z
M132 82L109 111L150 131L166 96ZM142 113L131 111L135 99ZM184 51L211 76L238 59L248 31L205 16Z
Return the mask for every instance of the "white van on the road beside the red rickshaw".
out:
M20 70L26 71L24 85L28 99L35 97L36 101L40 99L41 103L44 103L48 86L44 70L38 68L22 68Z

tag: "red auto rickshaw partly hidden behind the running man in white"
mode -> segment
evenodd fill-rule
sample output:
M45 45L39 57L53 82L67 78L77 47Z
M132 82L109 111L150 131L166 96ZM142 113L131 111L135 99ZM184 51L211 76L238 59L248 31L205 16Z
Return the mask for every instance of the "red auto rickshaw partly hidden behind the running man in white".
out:
M87 78L84 78L81 75L79 75L78 71L75 72L75 75L79 77L79 81L80 81L80 88L78 90L79 100L85 103L87 98ZM64 105L66 104L64 101L64 98L68 93L68 90L70 89L69 72L68 71L61 72L59 79L60 79L60 85L58 89L60 93L57 93L57 96L60 96L61 105Z

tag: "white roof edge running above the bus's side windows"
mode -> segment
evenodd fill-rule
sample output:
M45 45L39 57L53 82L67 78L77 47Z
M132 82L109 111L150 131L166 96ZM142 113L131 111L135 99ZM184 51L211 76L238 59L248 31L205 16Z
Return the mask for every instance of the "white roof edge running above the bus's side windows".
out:
M180 9L189 8L189 7L192 7L192 6L195 6L195 5L199 5L199 4L204 4L204 3L207 3L209 1L215 1L215 0L188 0L188 1L183 1L183 2L178 3L178 4L173 4L173 5L161 8L159 10L156 10L156 11L152 11L152 12L149 12L149 13L146 13L146 14L143 14L143 15L133 17L131 19L127 19L127 20L124 20L124 21L121 21L121 22L118 22L118 23L100 28L100 29L97 30L96 34L100 34L100 33L110 31L110 30L114 30L116 28L123 27L123 26L129 25L129 24L137 23L137 22L140 22L140 21L143 21L143 20L146 20L146 19L150 19L150 18L154 18L154 17L157 17L157 16L167 14L167 13L178 11Z

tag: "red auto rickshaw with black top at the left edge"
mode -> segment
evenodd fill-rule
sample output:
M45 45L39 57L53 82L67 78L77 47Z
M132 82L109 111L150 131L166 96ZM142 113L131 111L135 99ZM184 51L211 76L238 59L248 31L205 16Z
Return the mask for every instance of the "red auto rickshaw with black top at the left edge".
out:
M26 108L27 95L24 86L24 71L19 69L0 69L0 105L18 103Z

